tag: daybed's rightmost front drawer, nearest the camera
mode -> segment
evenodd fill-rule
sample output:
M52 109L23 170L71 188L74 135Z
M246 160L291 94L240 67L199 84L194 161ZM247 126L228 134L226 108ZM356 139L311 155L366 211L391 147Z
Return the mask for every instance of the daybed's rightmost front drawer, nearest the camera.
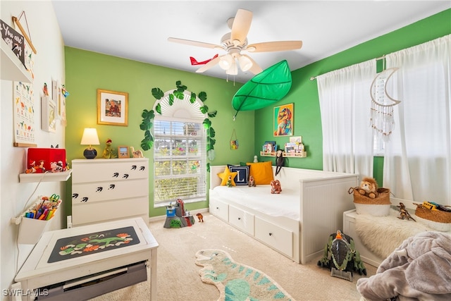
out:
M255 217L255 238L283 254L293 257L293 233L273 223Z

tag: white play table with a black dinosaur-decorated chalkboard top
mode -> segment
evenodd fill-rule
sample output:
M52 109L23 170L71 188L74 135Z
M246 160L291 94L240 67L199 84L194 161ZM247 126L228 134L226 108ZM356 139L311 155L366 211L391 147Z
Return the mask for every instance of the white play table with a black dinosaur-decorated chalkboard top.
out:
M117 235L118 233L134 235L127 237L123 234ZM111 240L116 236L120 239ZM75 246L81 247L80 250L74 250L77 248ZM103 294L124 287L124 283L134 284L130 283L130 278L139 278L139 281L142 281L144 272L147 278L147 266L150 269L149 300L156 300L158 246L142 218L48 231L35 245L15 281L20 282L25 300L34 299L35 296L30 293L32 290L42 294L38 300L83 300L86 298L83 293L89 296L89 291L86 290L99 295L99 292ZM73 252L69 252L70 250ZM115 278L118 279L116 282ZM99 286L96 288L92 285L93 288L87 288L91 283L97 283L94 285ZM80 292L72 289L77 287L80 287ZM52 290L59 290L59 293L55 294L56 297L51 297ZM66 290L69 293L66 293ZM73 290L72 295L70 290Z

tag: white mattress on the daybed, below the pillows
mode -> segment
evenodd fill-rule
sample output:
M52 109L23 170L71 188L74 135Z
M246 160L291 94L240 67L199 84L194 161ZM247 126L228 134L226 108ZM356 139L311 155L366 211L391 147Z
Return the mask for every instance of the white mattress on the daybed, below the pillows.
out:
M280 194L271 194L271 185L249 186L216 186L213 192L221 199L241 204L242 206L260 211L268 216L284 216L300 221L299 195L300 191L283 188Z

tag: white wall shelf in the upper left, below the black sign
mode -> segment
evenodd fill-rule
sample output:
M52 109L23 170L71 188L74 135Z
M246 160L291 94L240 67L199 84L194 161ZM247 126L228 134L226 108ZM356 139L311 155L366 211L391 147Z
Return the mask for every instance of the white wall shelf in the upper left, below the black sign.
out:
M18 82L33 82L31 74L25 69L23 63L8 47L4 39L1 42L1 80L12 80Z

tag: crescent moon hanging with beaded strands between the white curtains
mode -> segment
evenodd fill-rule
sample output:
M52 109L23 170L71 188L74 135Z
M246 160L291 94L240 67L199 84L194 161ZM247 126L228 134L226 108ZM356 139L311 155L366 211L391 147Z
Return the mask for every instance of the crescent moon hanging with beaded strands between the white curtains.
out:
M390 97L387 92L387 82L399 68L388 68L376 75L370 87L371 95L371 128L386 142L395 128L393 106L400 104L400 100Z

